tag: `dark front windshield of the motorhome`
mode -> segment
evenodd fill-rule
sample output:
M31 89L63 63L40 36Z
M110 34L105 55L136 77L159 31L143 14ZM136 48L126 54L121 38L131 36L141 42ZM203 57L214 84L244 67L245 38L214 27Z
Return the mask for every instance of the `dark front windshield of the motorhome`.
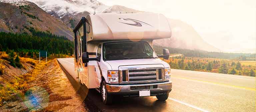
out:
M158 58L147 42L111 42L103 44L104 60Z

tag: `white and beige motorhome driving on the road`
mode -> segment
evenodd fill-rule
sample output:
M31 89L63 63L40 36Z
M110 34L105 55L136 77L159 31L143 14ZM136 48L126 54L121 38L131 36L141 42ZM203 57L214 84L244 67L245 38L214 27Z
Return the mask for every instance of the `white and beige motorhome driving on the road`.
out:
M75 73L87 88L97 89L105 104L115 95L156 96L172 90L169 58L153 50L153 40L171 37L167 18L154 13L104 13L82 17L74 29Z

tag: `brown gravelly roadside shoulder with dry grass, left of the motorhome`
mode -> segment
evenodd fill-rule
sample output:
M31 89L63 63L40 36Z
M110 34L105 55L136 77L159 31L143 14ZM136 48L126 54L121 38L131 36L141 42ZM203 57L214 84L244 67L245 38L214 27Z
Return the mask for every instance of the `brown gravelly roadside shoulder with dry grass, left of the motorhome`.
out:
M83 112L83 100L77 95L57 60L41 63L34 67L23 94L0 107L0 112Z

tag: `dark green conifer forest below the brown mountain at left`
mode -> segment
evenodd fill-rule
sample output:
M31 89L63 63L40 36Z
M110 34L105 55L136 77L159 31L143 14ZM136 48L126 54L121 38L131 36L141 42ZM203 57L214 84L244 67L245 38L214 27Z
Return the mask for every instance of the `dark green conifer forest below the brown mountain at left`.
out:
M35 31L29 29L29 34L14 34L0 32L0 51L14 50L20 56L38 54L40 50L47 54L73 54L74 44L65 36L54 35L49 32Z

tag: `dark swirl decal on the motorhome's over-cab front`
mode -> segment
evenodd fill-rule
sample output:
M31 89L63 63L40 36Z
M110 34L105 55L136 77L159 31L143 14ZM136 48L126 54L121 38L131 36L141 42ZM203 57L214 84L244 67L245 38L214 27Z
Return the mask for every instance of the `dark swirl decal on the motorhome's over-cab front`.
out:
M118 18L118 19L122 20L122 22L119 22L119 23L124 23L124 24L132 25L132 26L138 26L138 27L141 27L142 25L151 26L148 23L145 23L145 22L142 22L139 20L135 20L135 19L129 19L129 18Z

